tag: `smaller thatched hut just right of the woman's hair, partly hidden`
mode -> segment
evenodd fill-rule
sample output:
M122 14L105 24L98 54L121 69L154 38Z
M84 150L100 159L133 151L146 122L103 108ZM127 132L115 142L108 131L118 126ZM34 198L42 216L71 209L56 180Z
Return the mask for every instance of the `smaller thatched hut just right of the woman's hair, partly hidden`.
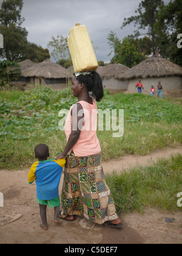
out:
M103 80L104 88L113 91L127 90L127 79L121 78L121 74L128 71L127 66L120 63L109 64L107 66L99 66L96 70Z

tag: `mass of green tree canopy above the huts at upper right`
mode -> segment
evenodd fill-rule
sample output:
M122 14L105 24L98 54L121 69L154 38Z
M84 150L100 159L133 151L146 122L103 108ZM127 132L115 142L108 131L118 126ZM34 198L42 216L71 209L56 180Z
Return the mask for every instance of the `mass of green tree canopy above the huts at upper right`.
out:
M112 62L123 65L129 63L130 67L146 59L150 54L155 55L158 50L161 57L182 66L182 51L177 47L182 27L182 1L171 0L165 5L163 0L144 0L140 2L135 13L135 16L124 18L121 26L123 29L133 23L137 26L133 35L128 35L128 39L124 38L123 42L113 31L107 37L110 49L114 53ZM130 54L131 49L133 54ZM124 55L128 57L127 62Z

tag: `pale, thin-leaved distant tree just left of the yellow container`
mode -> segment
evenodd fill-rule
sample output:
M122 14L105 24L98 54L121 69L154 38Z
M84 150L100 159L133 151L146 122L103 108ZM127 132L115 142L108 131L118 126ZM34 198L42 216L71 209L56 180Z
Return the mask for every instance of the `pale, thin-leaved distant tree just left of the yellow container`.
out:
M71 59L67 38L64 38L62 35L58 35L57 38L52 37L51 39L52 40L49 41L47 47L52 49L52 57L57 61L61 59Z

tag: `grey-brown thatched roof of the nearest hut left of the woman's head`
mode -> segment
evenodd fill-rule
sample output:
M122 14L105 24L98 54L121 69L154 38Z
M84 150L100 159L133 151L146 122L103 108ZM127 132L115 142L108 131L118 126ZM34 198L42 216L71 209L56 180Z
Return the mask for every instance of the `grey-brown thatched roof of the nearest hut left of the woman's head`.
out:
M51 60L44 60L41 63L35 63L30 68L27 68L23 76L25 77L44 77L47 79L60 79L69 76L66 68L53 63Z

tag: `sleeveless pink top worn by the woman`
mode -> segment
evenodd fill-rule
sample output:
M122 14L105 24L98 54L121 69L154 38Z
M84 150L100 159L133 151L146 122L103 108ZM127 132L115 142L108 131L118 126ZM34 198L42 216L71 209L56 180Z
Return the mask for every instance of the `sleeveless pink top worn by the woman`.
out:
M79 139L73 146L73 152L77 157L85 157L87 155L94 155L101 152L99 140L96 136L97 128L97 106L95 99L91 97L93 104L86 101L79 101L84 110L84 123L79 135ZM64 131L66 133L67 141L69 140L70 133L72 132L72 107L67 115ZM72 115L71 115L72 113ZM81 115L82 116L82 115ZM72 150L68 152L70 154Z

